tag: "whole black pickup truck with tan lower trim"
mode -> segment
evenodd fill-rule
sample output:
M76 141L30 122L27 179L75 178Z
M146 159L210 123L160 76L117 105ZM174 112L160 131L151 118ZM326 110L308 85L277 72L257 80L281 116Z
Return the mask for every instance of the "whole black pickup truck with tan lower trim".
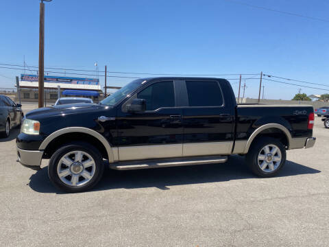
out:
M99 104L32 110L16 139L18 161L40 169L50 158L56 187L78 192L103 169L223 163L245 155L254 174L271 177L286 150L311 148L313 106L236 105L230 83L217 78L145 78Z

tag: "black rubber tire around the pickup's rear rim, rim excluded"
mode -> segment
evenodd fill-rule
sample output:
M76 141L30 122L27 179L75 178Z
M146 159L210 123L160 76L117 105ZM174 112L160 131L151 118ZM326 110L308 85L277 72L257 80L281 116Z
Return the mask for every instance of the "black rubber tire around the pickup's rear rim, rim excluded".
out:
M273 170L273 172L264 172L262 169L260 169L260 165L258 164L258 154L260 154L260 151L263 150L266 145L276 145L281 152L281 162L278 167ZM246 156L246 161L249 165L249 168L252 170L252 173L254 173L256 176L260 176L263 178L271 178L273 176L276 176L278 172L280 172L280 169L282 169L284 163L286 163L286 158L286 149L278 139L271 137L260 137L256 139L249 148L249 152Z

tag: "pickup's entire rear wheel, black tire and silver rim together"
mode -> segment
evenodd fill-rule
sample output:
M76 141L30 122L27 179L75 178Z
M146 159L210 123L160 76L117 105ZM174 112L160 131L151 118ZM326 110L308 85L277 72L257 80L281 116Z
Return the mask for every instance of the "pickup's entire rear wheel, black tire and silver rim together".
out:
M267 150L266 147L269 149ZM273 148L277 148L277 151ZM286 158L284 145L278 139L271 137L256 139L246 156L247 164L252 172L263 178L276 176L286 163Z

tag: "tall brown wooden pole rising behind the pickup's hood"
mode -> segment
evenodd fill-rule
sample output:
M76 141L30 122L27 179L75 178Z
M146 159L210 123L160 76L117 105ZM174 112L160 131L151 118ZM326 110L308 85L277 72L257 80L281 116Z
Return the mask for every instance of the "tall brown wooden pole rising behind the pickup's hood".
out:
M39 23L39 71L38 71L38 107L43 107L44 85L45 85L45 3L40 2L40 23Z

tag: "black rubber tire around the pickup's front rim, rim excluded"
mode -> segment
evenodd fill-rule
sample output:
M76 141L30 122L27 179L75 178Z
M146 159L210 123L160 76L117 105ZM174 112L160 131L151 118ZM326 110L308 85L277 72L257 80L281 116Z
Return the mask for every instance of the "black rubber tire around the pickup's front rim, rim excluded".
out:
M58 176L57 168L58 165L60 165L60 159L65 155L68 154L69 152L73 151L82 151L86 152L88 155L90 155L94 161L95 161L95 172L93 177L88 181L88 183L80 186L70 186L66 185L60 177ZM103 176L103 171L104 171L104 165L103 165L103 158L101 156L101 153L99 150L94 148L92 145L89 143L84 143L84 142L75 142L75 143L69 143L61 148L59 148L52 156L49 161L49 166L48 166L48 175L49 179L55 185L58 189L69 192L69 193L77 193L77 192L82 192L82 191L87 191L89 189L92 189L101 177Z

